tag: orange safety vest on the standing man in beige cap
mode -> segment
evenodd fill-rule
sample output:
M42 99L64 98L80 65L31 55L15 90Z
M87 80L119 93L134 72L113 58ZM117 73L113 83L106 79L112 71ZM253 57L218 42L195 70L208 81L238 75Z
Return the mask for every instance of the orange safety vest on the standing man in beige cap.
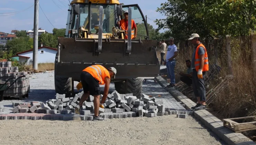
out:
M206 49L205 49L205 47L202 43L198 45L198 47L196 48L196 51L195 51L195 70L198 71L199 67L200 67L200 58L199 58L199 55L198 55L199 47L203 47L203 49L205 51L205 53L204 53L204 65L203 65L203 70L202 71L208 71L209 70L208 55L207 55Z

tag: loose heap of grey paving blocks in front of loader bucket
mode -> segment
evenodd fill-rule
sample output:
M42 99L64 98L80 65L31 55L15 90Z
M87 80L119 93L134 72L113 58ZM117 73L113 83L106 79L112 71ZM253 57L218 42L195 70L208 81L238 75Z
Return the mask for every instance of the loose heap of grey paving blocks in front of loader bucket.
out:
M46 103L31 102L30 104L13 103L13 113L44 113L44 114L74 114L75 106L83 95L76 94L74 97L65 98L64 95L56 94L55 99L46 101ZM103 96L101 95L100 99ZM94 113L93 96L84 101L80 110L80 115L91 115ZM156 117L177 114L179 118L186 118L191 112L184 110L175 110L163 105L163 101L156 101L155 97L149 97L145 94L141 98L132 96L132 94L119 94L113 91L103 104L104 109L99 109L99 114L103 118L127 118L127 117Z

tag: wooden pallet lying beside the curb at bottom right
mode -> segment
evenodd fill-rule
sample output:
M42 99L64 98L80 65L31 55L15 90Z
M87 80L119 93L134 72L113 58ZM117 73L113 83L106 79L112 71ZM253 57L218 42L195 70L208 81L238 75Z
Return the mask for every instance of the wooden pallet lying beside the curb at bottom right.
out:
M246 122L246 123L237 123L234 120L239 119L256 119L256 116L248 116L248 117L239 117L239 118L229 118L223 119L223 126L231 129L235 133L241 133L246 131L253 131L256 130L256 121Z

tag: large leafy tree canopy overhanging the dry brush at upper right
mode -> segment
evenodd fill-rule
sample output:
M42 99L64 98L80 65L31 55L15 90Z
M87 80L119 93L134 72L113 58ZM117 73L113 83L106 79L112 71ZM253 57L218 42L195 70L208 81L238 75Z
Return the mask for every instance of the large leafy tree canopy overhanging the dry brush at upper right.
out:
M176 41L192 33L205 38L246 36L255 27L255 7L255 0L168 0L157 9L167 18L155 22L158 29L170 29Z

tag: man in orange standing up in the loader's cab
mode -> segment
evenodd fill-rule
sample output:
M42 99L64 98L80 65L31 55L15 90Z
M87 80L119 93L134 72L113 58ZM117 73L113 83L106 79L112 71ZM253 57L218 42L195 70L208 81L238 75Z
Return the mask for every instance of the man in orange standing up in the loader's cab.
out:
M125 39L128 39L128 10L124 12L125 19L118 21L117 24L121 27L121 30L125 30ZM134 30L133 30L134 29ZM135 31L135 32L134 32ZM133 19L131 19L131 39L135 39L137 37L137 26Z

